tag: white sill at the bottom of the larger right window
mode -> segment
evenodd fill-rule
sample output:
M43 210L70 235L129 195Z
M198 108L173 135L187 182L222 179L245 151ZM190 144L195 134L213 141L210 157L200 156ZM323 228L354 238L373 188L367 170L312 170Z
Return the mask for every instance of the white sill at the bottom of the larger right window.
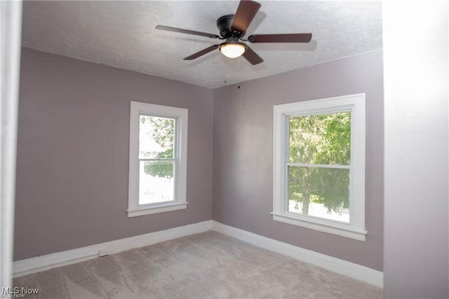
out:
M332 220L325 220L321 218L311 218L303 215L294 215L293 213L272 213L273 220L288 223L290 225L297 225L306 227L311 230L319 232L326 232L328 234L336 234L341 237L355 239L358 241L366 241L366 230L357 230L351 224L337 222Z

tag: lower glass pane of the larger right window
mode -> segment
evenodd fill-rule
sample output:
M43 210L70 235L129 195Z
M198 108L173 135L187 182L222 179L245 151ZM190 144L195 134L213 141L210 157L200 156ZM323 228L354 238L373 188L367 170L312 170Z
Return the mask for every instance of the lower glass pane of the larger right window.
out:
M349 169L288 166L288 211L349 222Z

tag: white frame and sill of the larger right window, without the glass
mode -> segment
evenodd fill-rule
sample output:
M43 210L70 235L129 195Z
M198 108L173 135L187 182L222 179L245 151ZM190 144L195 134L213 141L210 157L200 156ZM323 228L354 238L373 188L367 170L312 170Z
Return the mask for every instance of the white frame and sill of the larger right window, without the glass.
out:
M288 117L351 112L349 223L288 211ZM273 220L366 241L365 230L365 94L344 95L274 106Z

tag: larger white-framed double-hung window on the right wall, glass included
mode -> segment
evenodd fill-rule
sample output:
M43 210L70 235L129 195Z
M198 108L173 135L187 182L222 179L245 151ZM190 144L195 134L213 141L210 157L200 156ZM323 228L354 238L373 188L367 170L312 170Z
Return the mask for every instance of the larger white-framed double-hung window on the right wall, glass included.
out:
M273 219L365 241L365 95L274 106Z

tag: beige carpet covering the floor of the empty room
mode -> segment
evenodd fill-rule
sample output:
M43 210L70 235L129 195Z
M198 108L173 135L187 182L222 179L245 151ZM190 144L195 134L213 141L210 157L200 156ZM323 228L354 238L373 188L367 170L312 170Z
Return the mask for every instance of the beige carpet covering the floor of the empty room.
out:
M26 298L382 298L382 289L217 232L14 279Z

